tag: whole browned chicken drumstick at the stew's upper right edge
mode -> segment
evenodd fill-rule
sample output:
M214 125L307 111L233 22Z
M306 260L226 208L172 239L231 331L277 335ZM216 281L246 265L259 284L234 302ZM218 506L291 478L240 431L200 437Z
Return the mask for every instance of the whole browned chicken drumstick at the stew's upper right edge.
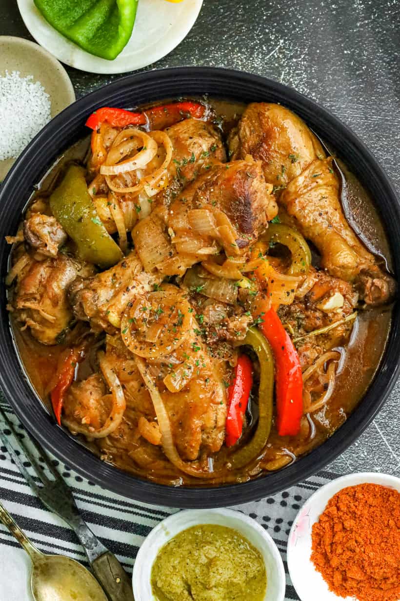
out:
M279 192L279 207L317 246L331 275L355 282L367 304L391 299L393 279L377 266L345 219L332 157L325 158L320 142L297 115L279 105L253 103L229 144L233 157L249 153L263 161L267 182Z

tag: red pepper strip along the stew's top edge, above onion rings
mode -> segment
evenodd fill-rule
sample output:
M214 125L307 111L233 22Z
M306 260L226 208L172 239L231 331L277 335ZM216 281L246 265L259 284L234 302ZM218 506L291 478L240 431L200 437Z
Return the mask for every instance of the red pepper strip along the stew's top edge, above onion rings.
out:
M86 126L91 129L98 129L101 123L107 121L113 127L126 127L127 125L145 125L151 124L151 129L164 129L174 123L178 123L182 118L194 117L201 119L206 114L206 106L199 102L173 102L169 105L154 106L142 113L125 111L125 109L110 108L104 106L97 109L90 115L86 121Z

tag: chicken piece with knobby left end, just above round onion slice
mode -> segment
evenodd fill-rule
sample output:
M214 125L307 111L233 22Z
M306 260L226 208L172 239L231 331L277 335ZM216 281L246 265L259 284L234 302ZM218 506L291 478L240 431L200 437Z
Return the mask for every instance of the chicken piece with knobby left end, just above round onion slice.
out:
M160 283L157 275L143 271L135 251L115 266L91 278L77 278L69 298L77 319L88 321L94 331L113 334L128 303Z

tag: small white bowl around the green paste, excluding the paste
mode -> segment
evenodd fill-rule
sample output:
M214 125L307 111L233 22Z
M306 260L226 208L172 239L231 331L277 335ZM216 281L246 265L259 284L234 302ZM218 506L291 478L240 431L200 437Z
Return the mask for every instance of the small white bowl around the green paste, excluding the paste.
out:
M155 600L151 589L151 570L158 551L171 538L199 524L234 528L260 551L267 571L267 590L263 601L284 601L285 570L278 548L267 532L251 517L231 509L178 511L150 532L137 554L133 568L133 594L136 601Z

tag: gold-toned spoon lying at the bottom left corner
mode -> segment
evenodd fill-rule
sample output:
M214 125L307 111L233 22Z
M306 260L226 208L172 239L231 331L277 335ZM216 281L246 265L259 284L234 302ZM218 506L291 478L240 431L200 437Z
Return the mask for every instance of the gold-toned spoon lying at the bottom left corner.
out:
M46 555L39 551L1 502L0 520L32 560L31 589L35 601L107 601L89 570L65 555Z

